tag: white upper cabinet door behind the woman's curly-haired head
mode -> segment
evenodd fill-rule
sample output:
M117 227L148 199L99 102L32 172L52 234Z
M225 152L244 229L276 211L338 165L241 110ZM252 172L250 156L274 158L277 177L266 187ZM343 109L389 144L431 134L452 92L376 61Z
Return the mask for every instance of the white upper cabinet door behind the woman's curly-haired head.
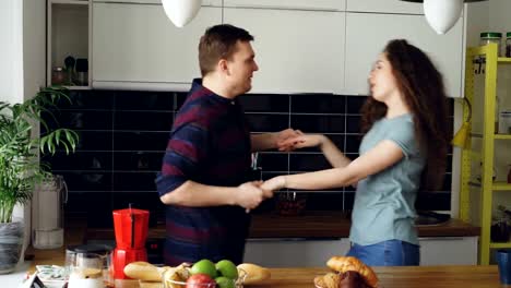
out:
M396 38L407 39L429 55L443 74L448 96L462 95L462 19L445 35L437 35L424 16L373 13L346 15L347 94L368 95L367 79L371 67L387 43Z

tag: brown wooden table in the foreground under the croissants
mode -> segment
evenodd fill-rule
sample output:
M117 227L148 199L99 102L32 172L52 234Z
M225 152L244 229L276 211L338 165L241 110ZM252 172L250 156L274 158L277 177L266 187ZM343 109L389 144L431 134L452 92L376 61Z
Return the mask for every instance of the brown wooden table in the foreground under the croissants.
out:
M311 288L328 268L272 268L272 278L249 288ZM490 288L499 284L497 266L375 267L383 288Z

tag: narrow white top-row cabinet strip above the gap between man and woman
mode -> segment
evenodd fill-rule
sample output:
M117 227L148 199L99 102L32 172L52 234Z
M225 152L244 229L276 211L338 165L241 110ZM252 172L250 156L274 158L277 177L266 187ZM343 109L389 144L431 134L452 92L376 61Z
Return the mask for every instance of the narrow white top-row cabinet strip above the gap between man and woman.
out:
M344 11L345 0L224 0L224 5L237 8Z

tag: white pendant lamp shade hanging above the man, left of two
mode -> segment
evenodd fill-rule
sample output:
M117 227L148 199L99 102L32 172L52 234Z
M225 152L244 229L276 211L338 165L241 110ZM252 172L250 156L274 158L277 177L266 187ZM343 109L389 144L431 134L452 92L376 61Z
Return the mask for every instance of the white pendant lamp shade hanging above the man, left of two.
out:
M202 0L162 0L162 4L167 17L181 28L197 15Z

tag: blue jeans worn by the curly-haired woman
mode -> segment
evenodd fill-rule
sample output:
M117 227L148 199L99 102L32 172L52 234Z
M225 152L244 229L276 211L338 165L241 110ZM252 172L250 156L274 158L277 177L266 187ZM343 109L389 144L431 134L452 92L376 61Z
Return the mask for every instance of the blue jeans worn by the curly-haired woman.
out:
M420 248L400 240L372 245L353 243L346 256L355 256L369 266L418 266Z

